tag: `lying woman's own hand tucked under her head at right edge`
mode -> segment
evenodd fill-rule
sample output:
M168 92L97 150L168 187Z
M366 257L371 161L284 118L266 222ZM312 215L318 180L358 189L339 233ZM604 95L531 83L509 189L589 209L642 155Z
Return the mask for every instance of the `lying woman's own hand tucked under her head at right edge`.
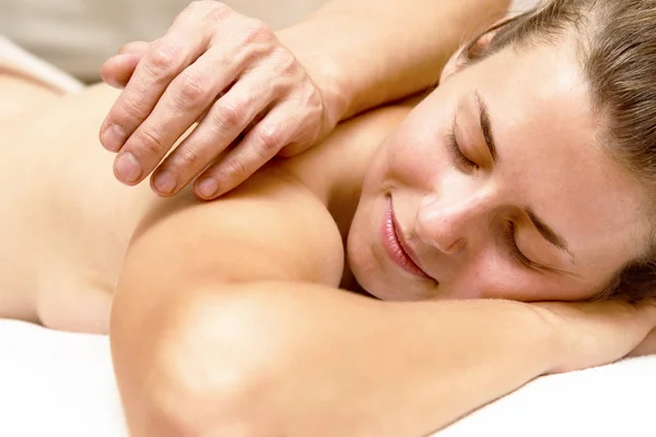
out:
M562 339L563 361L553 373L579 370L625 357L654 353L649 349L656 328L656 302L531 304ZM653 346L653 345L652 345Z

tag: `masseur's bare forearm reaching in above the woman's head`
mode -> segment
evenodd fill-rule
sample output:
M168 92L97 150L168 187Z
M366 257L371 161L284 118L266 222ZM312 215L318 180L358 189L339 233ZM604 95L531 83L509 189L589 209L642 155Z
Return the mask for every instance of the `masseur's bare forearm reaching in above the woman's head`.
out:
M330 90L342 119L437 82L457 47L509 0L332 0L281 40Z

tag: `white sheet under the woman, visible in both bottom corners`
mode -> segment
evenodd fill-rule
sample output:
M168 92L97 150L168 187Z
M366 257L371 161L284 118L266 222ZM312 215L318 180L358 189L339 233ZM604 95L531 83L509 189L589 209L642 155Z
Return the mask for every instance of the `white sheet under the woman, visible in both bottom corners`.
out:
M655 413L656 356L540 378L434 437L653 437ZM0 320L0 436L50 435L127 437L107 338Z

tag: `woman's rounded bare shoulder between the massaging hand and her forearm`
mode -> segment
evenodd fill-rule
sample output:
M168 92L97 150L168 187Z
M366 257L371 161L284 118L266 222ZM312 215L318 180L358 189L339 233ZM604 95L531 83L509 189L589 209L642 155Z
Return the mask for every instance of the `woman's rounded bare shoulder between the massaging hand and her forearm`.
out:
M119 279L129 287L303 281L337 285L339 231L307 188L276 168L212 202L187 190L157 199L131 239Z

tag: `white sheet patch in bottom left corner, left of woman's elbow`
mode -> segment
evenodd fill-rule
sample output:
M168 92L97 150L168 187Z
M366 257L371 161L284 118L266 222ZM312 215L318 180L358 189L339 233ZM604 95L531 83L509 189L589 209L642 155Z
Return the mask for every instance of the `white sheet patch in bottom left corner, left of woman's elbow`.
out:
M107 338L0 320L0 436L127 436Z

